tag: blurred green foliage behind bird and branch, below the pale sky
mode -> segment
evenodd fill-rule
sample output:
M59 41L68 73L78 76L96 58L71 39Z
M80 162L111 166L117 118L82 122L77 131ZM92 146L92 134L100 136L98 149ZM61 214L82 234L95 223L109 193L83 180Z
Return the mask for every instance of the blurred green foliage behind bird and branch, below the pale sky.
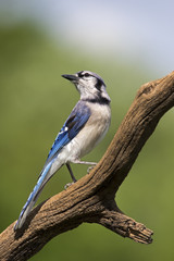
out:
M86 157L92 161L104 153L139 86L156 78L140 64L78 53L70 46L64 47L61 39L53 42L28 24L0 28L1 231L17 219L57 133L78 99L74 86L61 74L97 72L112 97L111 128ZM173 260L173 129L171 110L117 192L120 208L154 231L152 245L138 245L99 225L83 224L52 239L32 260ZM73 165L73 170L77 178L86 173L85 166ZM69 182L62 167L38 202L61 191Z

